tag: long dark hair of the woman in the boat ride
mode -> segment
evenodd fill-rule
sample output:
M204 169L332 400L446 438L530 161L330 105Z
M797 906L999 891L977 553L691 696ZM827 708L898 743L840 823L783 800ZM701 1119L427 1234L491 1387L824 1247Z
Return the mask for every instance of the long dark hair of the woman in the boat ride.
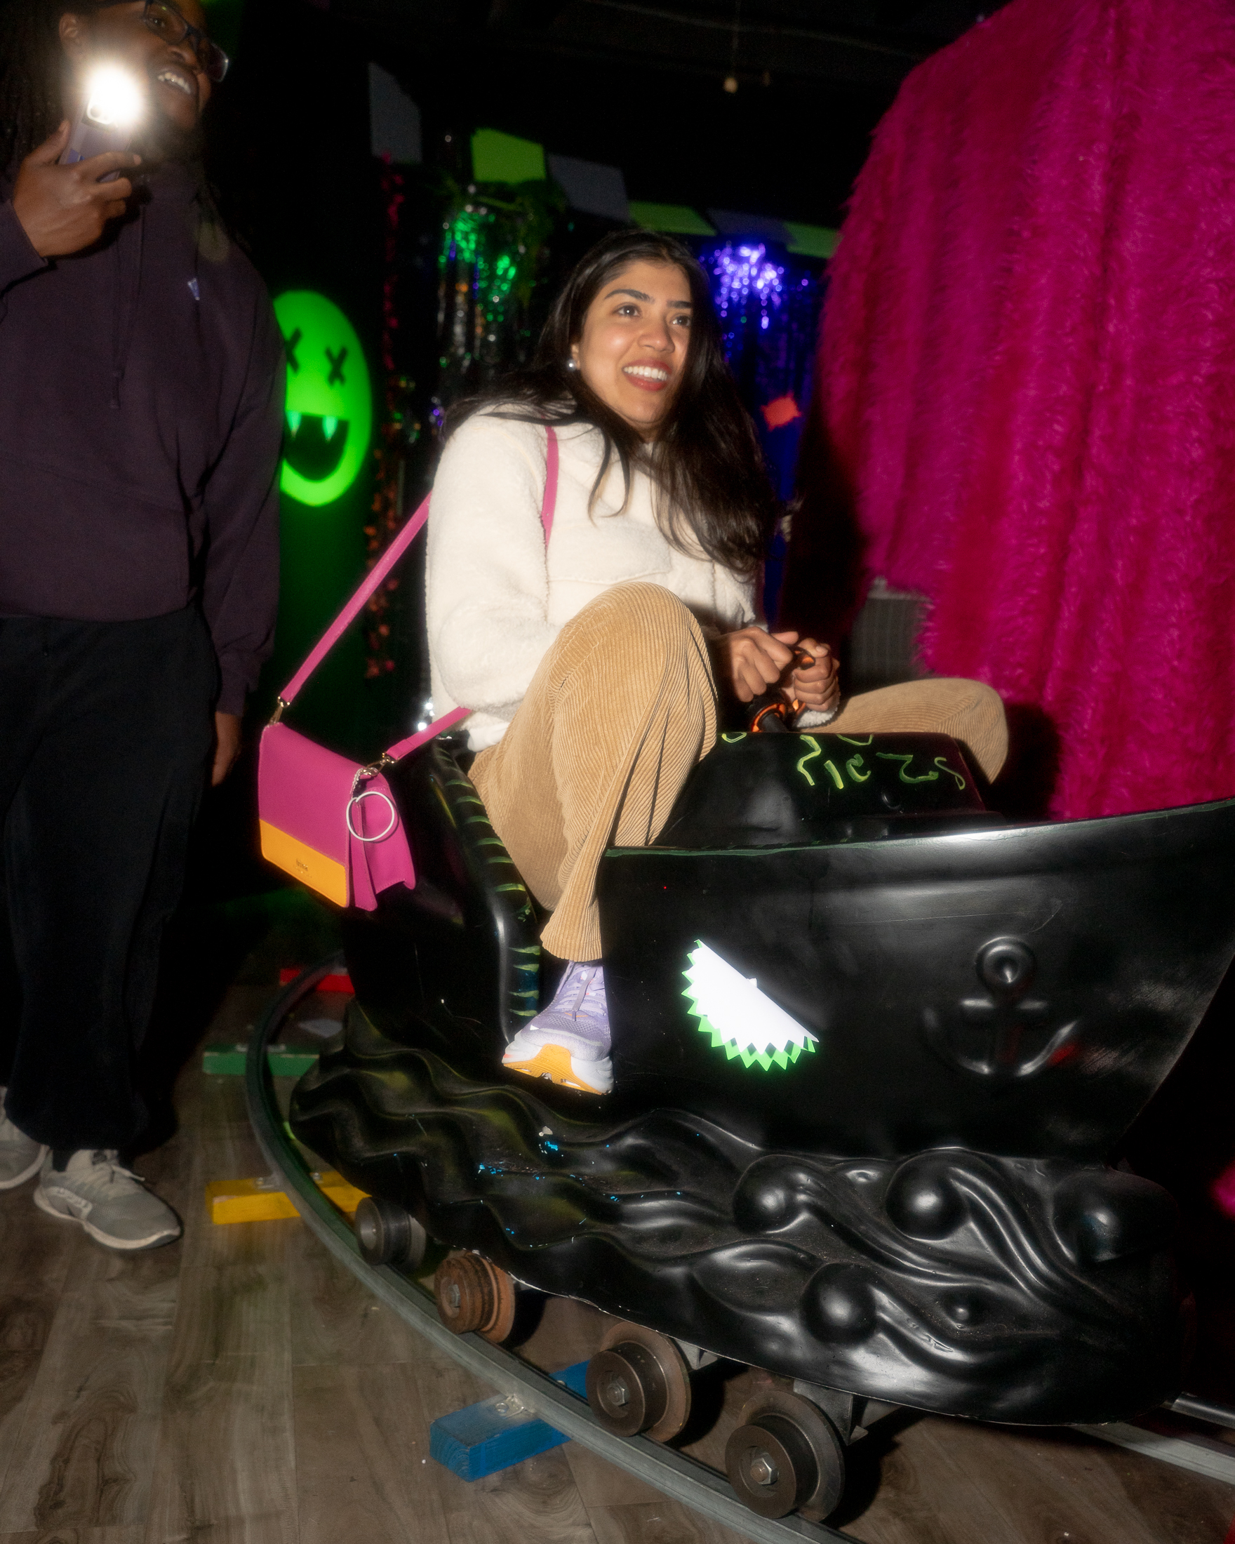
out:
M681 269L692 303L685 367L650 446L567 364L588 307L611 278L634 262ZM630 469L638 462L651 476L656 522L675 547L689 553L698 543L744 577L758 571L777 506L755 428L721 350L707 276L681 241L650 230L619 230L597 241L553 303L531 367L458 403L448 432L482 408L522 423L594 425L604 435L604 454L593 499L614 457L630 497Z

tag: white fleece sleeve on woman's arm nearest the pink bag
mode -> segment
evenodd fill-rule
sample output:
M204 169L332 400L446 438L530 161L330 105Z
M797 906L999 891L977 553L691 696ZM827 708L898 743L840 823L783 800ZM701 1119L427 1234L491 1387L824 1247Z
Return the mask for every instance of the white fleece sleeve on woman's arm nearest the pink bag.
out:
M429 648L460 707L509 721L557 636L540 500L545 431L469 418L442 455L429 514Z

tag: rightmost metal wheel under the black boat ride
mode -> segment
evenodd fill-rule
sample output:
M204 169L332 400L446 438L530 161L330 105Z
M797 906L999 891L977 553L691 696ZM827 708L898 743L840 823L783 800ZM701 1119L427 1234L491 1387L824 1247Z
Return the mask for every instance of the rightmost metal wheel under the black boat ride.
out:
M761 1518L800 1512L821 1522L844 1493L844 1447L832 1422L809 1400L777 1390L746 1405L724 1467L738 1499Z

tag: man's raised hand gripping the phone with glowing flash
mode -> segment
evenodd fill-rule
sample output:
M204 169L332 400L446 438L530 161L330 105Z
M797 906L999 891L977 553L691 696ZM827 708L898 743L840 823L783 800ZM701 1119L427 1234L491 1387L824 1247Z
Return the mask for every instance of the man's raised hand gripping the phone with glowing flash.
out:
M131 150L108 150L90 161L57 165L68 145L69 120L22 162L12 188L12 210L40 258L66 258L93 247L107 222L124 215L133 184L120 176L100 182L108 171L131 171L142 157Z

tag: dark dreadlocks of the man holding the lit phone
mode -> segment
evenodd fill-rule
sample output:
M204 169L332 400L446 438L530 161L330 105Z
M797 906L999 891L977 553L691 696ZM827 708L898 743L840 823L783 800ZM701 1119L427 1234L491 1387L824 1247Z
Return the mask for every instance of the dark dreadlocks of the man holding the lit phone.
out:
M60 17L116 0L8 0L0 9L0 171L42 145L65 116Z

